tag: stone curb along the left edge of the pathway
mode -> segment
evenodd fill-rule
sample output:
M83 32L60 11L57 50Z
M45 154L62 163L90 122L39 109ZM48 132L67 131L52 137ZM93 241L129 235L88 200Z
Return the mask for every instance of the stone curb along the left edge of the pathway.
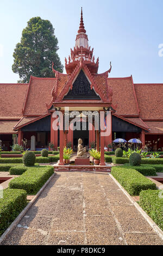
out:
M4 231L2 236L0 237L0 245L1 243L6 239L6 237L11 233L11 231L16 227L18 222L20 222L21 218L26 214L26 212L29 210L29 208L34 204L35 200L40 196L42 191L45 189L45 187L48 185L48 183L54 178L56 173L54 173L47 182L40 188L39 192L34 196L34 198L27 204L26 208L22 210L22 212L17 216L15 221L11 223L11 225L8 227L7 230Z

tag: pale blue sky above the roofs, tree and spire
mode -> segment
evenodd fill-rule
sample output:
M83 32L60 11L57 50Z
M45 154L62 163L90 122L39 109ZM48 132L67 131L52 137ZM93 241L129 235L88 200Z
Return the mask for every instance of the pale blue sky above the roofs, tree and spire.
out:
M62 64L74 47L80 8L89 44L99 57L99 73L133 75L134 83L163 83L162 0L0 0L0 83L16 83L12 53L27 21L40 16L52 22ZM3 49L2 49L3 46Z

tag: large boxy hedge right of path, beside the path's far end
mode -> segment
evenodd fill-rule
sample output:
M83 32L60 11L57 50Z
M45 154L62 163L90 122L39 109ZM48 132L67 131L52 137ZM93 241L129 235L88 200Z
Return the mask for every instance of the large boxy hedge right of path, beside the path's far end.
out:
M131 196L139 196L142 190L156 190L156 185L137 170L112 167L111 174Z

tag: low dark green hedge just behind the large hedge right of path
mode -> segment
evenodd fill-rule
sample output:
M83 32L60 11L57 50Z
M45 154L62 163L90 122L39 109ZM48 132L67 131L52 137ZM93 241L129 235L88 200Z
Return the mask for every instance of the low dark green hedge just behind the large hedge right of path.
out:
M130 166L129 164L126 164L123 166L123 168L135 169L144 176L157 176L155 168L149 165L148 166Z

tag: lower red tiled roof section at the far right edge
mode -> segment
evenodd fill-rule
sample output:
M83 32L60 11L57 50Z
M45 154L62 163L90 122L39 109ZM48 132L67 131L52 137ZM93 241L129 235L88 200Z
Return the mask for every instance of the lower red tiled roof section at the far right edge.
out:
M134 84L142 119L163 119L163 84Z

